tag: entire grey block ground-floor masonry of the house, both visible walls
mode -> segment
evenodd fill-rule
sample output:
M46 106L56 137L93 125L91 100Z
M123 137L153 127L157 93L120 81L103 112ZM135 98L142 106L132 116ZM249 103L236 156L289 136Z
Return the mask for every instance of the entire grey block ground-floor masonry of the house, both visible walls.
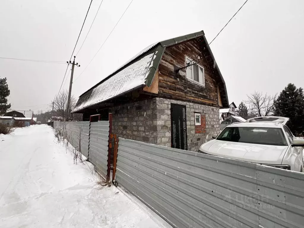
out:
M113 107L112 133L118 137L171 147L171 103L186 106L188 150L219 133L219 108L166 98L152 98ZM201 113L201 126L195 126L195 113Z

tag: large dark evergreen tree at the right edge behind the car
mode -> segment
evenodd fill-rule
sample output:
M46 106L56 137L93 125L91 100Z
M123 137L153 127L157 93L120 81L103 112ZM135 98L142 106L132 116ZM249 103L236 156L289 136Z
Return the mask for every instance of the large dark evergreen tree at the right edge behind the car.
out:
M287 126L295 136L304 133L304 95L302 88L289 83L275 101L275 116L288 117Z

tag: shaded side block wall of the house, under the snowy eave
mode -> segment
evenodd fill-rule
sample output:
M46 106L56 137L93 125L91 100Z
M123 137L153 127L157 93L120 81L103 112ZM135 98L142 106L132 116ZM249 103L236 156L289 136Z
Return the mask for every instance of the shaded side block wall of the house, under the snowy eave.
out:
M112 133L125 139L157 144L156 99L149 99L110 109Z

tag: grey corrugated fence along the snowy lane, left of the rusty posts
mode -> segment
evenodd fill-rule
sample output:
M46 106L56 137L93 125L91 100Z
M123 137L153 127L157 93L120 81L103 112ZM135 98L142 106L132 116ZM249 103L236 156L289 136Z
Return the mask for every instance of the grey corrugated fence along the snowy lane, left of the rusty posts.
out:
M57 123L55 123L57 122ZM109 121L60 122L54 121L71 145L94 164L96 171L106 178L108 169Z

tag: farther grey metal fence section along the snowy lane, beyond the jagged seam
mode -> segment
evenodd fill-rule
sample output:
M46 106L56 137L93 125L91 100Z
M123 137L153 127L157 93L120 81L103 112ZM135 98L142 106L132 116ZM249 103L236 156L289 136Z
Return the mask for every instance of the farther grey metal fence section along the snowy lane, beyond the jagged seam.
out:
M67 135L69 143L76 149L81 149L81 153L88 157L88 146L89 146L89 121L79 122L60 122L59 125L63 133Z

